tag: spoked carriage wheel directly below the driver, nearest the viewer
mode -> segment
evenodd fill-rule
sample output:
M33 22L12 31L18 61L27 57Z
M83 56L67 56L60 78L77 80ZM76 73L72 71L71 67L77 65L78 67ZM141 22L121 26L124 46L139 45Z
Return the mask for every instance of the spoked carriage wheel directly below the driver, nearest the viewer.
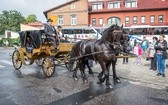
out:
M46 77L51 77L55 72L54 60L47 57L43 60L42 69Z

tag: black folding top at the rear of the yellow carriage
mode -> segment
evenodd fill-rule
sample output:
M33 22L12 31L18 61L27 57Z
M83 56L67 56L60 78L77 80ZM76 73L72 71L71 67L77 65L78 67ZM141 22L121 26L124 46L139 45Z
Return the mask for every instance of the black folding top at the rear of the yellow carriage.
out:
M21 46L26 46L26 38L29 37L33 48L39 48L42 43L42 35L44 35L44 30L28 30L28 31L20 31L20 41Z

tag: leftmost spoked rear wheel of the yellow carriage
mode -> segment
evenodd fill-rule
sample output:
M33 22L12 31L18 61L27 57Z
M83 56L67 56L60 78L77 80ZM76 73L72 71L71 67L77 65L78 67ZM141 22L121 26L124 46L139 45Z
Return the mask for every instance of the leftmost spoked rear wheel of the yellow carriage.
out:
M22 67L22 61L20 59L20 54L19 54L19 51L15 50L13 52L13 55L12 55L12 63L13 63L13 67L16 69L16 70L19 70L21 67Z

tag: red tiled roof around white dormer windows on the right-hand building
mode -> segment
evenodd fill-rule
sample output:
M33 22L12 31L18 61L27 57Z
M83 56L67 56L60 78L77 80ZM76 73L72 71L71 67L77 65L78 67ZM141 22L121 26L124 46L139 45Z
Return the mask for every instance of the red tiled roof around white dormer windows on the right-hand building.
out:
M114 0L110 0L114 1ZM124 11L145 11L145 10L165 10L168 9L168 0L134 0L138 1L138 7L136 8L125 8L125 0L121 0L121 7L119 9L102 9L102 10L91 10L91 13L97 13L97 12L124 12ZM90 2L90 6L92 3L100 2L100 1L94 1ZM104 4L107 4L109 0L102 1Z

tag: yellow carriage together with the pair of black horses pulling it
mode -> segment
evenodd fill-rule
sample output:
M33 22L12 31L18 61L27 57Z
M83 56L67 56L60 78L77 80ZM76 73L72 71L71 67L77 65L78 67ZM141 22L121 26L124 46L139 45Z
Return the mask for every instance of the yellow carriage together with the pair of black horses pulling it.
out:
M112 65L113 79L120 82L116 75L116 62L121 52L126 53L129 37L123 32L123 27L112 25L103 33L100 40L79 41L75 45L72 43L60 43L59 50L55 50L53 44L45 37L44 31L22 31L20 32L21 47L16 47L12 56L15 69L20 69L26 60L30 60L30 65L36 60L43 61L42 69L47 77L54 74L55 62L63 62L73 70L73 77L77 78L77 70L80 69L84 81L84 72L88 60L95 60L101 65L102 72L98 75L98 83L106 81L106 85L111 87L109 82L109 70ZM30 45L32 44L32 45ZM71 54L69 54L71 52ZM121 56L121 58L124 56ZM43 59L43 60L41 60ZM73 65L76 62L75 68ZM39 62L37 63L39 64Z

